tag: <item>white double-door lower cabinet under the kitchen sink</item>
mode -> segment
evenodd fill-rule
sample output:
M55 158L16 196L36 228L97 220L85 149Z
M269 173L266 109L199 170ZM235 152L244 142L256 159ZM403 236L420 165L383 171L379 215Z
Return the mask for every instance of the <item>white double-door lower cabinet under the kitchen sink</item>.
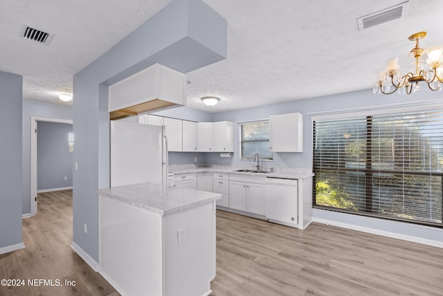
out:
M266 215L265 178L232 175L229 181L229 208Z

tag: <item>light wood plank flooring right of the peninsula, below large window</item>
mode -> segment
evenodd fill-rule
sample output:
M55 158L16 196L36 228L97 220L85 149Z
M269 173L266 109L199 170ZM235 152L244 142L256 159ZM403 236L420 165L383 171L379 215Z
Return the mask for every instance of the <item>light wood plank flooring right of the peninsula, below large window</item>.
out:
M443 295L443 249L217 211L219 295Z

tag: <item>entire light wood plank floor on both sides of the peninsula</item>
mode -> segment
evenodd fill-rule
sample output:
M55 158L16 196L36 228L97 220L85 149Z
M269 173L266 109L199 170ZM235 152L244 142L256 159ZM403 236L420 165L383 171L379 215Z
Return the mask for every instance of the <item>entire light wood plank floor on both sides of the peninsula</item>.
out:
M0 255L0 279L68 279L76 286L0 286L0 295L119 295L69 247L72 191L39 194L38 214L23 224L26 248ZM443 249L317 223L300 231L217 211L211 288L213 296L443 295Z

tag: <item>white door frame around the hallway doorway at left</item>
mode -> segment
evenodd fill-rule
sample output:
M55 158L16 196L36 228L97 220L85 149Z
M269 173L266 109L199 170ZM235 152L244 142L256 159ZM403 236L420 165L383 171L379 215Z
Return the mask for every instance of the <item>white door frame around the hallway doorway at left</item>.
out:
M73 124L71 119L30 116L30 216L37 214L37 121Z

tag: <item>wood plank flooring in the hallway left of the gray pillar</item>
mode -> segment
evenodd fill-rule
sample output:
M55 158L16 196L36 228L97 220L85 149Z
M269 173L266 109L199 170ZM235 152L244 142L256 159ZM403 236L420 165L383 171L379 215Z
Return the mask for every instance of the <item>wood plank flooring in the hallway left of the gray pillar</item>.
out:
M0 286L1 296L120 295L70 247L72 190L39 193L37 215L23 219L23 241L24 249L0 255L0 279L24 279L25 286ZM29 286L28 279L55 286Z

